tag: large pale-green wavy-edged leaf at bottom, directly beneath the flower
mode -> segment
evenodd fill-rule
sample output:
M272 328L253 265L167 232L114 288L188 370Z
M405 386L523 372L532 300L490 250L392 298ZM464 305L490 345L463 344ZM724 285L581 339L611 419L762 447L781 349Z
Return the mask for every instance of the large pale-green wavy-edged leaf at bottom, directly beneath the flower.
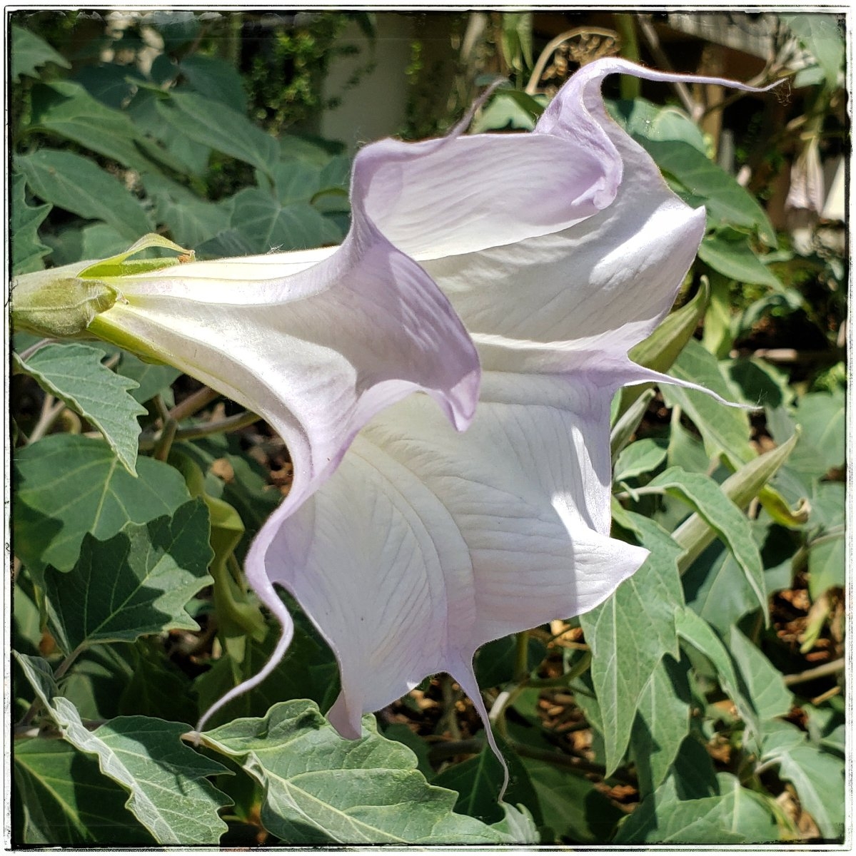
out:
M285 844L511 844L510 835L454 814L457 794L433 788L406 746L363 719L344 740L306 701L277 704L201 734L265 788L261 822ZM367 733L368 732L368 733Z

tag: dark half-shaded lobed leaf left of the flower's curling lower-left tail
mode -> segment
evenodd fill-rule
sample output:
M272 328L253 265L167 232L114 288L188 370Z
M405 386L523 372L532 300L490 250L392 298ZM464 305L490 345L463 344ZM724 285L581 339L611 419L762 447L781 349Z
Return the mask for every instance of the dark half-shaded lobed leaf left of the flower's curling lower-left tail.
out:
M184 605L211 583L210 558L201 500L186 503L171 518L128 524L109 540L87 534L75 568L64 574L45 570L51 633L70 654L96 642L197 630Z

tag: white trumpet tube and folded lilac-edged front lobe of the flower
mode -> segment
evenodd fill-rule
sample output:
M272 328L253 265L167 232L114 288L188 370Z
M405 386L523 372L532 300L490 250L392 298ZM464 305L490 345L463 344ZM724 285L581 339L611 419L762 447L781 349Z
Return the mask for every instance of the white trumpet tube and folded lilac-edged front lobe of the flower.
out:
M124 276L96 335L168 360L264 417L302 502L383 407L414 390L458 429L476 406L476 350L448 300L364 210L384 159L357 156L341 247Z

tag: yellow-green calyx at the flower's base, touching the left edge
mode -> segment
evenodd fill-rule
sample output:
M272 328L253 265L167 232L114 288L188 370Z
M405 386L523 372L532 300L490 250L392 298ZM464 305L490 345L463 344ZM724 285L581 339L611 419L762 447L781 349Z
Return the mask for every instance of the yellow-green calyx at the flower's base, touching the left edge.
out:
M162 235L152 234L110 259L76 262L15 277L11 289L13 329L48 338L69 338L87 331L98 336L90 325L122 300L122 276L178 264L178 259L130 259L148 247L186 253Z

